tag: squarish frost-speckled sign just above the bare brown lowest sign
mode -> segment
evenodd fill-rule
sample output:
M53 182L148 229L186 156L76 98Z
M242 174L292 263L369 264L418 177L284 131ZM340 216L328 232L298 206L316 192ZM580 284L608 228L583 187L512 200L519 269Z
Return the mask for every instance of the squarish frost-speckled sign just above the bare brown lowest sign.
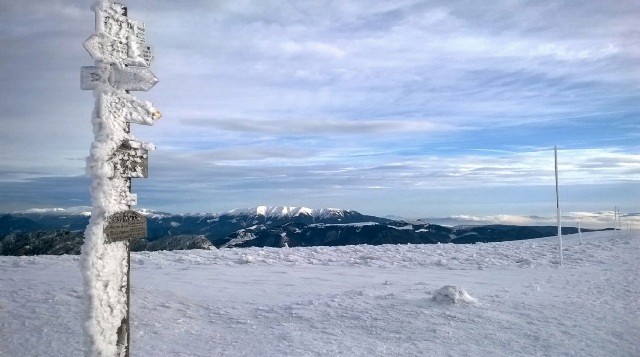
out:
M119 177L146 178L149 175L149 151L139 141L129 140L120 145L111 162Z

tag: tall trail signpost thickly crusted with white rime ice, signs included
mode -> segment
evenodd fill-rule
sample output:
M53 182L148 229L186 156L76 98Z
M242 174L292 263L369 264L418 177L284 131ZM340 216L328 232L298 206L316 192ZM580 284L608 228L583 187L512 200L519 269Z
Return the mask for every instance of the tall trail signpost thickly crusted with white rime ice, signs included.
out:
M80 70L80 87L96 98L87 159L93 208L82 247L88 354L129 356L130 244L147 235L145 217L131 210L137 202L131 179L148 176L148 152L155 148L136 140L130 124L152 125L161 117L129 91L147 91L158 78L147 68L153 55L144 24L128 18L120 3L102 0L92 10L96 33L83 46L95 63Z

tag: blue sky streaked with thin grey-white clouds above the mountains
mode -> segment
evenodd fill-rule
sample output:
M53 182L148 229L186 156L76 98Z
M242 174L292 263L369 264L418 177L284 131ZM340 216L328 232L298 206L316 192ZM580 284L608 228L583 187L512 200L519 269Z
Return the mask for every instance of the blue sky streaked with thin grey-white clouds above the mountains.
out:
M640 2L126 1L138 207L640 212ZM90 1L0 0L0 212L90 205ZM503 216L503 217L506 217Z

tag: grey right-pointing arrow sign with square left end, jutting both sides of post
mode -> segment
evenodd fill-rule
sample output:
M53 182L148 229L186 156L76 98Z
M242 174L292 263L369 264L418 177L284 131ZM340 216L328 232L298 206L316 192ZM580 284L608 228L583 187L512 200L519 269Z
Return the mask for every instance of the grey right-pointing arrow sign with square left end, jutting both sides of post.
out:
M114 89L148 91L158 78L146 67L85 66L80 69L80 88L93 90L102 84Z

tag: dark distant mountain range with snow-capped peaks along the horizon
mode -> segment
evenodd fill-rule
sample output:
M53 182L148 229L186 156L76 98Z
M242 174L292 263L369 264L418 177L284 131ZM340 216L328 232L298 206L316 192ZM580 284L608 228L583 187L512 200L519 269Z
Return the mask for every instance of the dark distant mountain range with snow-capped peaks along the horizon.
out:
M446 227L331 208L261 206L217 214L140 213L147 217L148 237L137 241L134 250L478 243L557 234L555 226ZM78 254L89 217L88 207L0 214L0 255ZM572 234L577 229L564 227L562 232Z

